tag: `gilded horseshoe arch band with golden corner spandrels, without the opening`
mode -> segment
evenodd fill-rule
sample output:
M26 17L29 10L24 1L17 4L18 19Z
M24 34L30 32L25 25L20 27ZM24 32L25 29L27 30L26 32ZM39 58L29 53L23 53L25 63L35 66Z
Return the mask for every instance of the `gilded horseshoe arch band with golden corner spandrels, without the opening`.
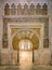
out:
M18 30L20 29L17 29L17 28L12 28L11 32L12 32L12 34L14 34ZM34 30L37 33L39 33L39 38L40 38L40 28L37 28L37 29L32 28L31 30ZM34 44L34 50L37 50L39 47L39 39L38 39L38 37L36 34L34 34L34 32L30 31L30 30L22 30L21 29L21 31L18 31L18 33L16 33L14 36L14 38L13 38L13 43L12 44L13 44L13 48L14 50L17 50L18 43L23 39L24 40L29 39L32 42L32 44Z

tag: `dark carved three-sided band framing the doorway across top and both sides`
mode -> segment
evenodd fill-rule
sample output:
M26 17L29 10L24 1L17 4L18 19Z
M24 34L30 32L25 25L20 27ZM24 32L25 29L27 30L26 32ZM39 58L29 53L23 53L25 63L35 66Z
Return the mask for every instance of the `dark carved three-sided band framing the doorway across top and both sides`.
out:
M4 20L3 20L3 47L8 47L8 23L9 22L11 22L11 23L17 23L17 22L31 22L32 23L32 18L27 18L26 20L25 20L26 18L24 17L24 18L14 18L14 19L12 19L12 18L5 18ZM39 22L39 23L44 23L44 42L46 43L48 43L49 42L49 19L48 18L34 18L34 20L35 22ZM48 44L46 44L44 43L44 47L49 47L49 45Z

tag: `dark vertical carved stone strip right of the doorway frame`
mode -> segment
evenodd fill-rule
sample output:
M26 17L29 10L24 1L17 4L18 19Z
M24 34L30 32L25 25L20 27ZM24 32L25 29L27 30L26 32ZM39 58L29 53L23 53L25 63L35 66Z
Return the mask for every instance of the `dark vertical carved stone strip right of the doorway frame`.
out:
M46 19L44 24L44 41L43 46L49 47L49 19Z

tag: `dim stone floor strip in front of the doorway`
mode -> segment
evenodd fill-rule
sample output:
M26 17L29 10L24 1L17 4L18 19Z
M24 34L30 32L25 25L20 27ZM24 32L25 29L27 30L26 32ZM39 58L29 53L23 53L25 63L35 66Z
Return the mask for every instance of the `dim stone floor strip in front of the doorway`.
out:
M52 66L0 66L0 70L52 70Z

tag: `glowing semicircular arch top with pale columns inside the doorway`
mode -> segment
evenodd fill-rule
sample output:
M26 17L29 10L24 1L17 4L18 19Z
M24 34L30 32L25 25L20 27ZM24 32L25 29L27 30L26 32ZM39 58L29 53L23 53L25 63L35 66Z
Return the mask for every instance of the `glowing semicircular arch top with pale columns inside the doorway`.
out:
M28 39L21 40L18 43L21 51L31 51L32 50L32 43Z

